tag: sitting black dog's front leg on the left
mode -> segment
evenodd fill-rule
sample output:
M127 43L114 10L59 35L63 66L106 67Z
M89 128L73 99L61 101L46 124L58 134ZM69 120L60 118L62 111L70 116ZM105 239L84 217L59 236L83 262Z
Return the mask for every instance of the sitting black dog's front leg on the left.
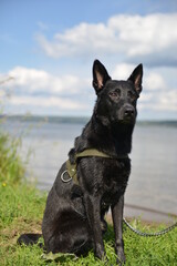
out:
M101 198L97 196L85 195L84 200L94 244L94 253L96 257L104 259L105 250L101 228Z

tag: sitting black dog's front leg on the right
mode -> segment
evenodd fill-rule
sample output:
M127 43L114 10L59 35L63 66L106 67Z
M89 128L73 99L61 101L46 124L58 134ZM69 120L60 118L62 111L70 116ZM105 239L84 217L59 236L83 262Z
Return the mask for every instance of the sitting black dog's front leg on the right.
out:
M124 195L122 195L119 197L119 201L112 206L113 224L115 232L115 252L117 254L118 265L125 263L123 241L123 208L124 208Z

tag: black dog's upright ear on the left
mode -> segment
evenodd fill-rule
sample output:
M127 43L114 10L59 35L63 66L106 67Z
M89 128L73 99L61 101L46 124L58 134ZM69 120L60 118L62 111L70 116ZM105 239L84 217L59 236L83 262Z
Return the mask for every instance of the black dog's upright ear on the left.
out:
M96 94L104 88L107 80L111 80L111 76L107 73L105 66L98 61L95 60L93 63L93 88L96 91Z

